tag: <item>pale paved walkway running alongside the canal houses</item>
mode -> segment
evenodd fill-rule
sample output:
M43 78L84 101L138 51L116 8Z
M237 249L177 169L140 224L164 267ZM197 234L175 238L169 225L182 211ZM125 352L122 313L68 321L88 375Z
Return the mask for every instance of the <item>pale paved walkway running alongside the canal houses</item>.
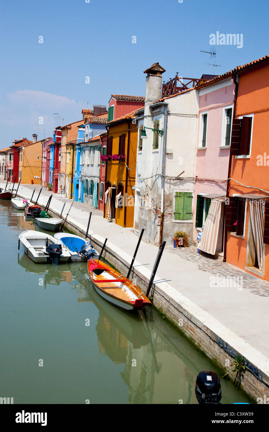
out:
M3 184L0 186L3 187ZM19 194L31 198L34 185L22 185ZM35 198L40 187L36 187ZM52 192L41 192L38 203L45 204ZM53 194L50 208L60 213L63 202L72 200ZM65 206L64 214L69 210ZM103 213L81 203L74 203L68 220L86 231L89 212L92 219L89 233L96 233L117 245L130 256L138 240L133 229L124 229L103 218ZM152 270L158 247L141 242L137 261ZM203 308L260 353L269 356L269 283L220 260L197 254L193 246L166 246L155 280L168 282L174 289ZM237 280L236 280L237 277ZM163 278L163 279L161 279ZM234 279L232 279L234 278Z

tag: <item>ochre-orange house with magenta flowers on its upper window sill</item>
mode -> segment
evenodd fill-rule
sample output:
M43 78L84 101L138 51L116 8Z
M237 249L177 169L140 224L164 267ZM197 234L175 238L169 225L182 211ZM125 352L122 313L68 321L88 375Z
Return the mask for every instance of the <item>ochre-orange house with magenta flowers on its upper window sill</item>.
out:
M115 219L115 223L123 227L133 226L137 146L136 111L138 110L108 122L104 217ZM117 159L119 155L124 155L124 160L111 160Z

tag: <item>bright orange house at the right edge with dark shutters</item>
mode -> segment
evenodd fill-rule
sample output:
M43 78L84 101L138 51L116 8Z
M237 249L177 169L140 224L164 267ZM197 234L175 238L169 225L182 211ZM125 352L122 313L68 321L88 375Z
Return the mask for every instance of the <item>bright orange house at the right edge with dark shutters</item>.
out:
M237 97L225 206L225 255L227 262L269 280L269 56L232 73Z

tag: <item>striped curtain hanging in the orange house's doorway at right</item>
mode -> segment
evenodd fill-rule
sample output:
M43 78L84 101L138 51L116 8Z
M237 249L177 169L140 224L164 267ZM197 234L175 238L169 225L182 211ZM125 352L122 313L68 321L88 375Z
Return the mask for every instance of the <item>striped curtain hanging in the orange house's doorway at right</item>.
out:
M264 232L264 203L260 201L249 201L250 221L253 237L256 245L259 269L263 267L263 232Z

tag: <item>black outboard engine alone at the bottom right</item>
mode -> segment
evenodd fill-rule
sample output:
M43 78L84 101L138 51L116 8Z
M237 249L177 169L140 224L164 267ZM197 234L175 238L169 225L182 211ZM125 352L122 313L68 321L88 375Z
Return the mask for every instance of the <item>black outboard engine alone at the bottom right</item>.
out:
M195 396L199 403L220 403L221 383L215 372L202 371L197 375Z

